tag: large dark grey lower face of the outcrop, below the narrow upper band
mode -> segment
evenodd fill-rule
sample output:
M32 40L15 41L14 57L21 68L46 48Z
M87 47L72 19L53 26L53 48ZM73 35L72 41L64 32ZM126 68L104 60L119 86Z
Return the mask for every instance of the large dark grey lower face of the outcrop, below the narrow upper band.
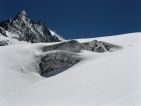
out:
M41 62L39 64L40 75L44 77L54 76L67 70L81 60L82 58L73 52L49 52L41 58Z

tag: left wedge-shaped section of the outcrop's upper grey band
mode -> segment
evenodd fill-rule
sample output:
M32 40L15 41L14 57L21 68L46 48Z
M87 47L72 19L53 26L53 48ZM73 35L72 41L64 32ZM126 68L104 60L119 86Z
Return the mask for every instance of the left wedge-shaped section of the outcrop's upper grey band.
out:
M52 50L64 50L64 51L70 51L70 52L80 52L81 50L84 50L85 46L81 43L79 43L76 40L70 40L66 42L61 42L58 44L46 46L42 48L43 52L46 51L52 51Z

